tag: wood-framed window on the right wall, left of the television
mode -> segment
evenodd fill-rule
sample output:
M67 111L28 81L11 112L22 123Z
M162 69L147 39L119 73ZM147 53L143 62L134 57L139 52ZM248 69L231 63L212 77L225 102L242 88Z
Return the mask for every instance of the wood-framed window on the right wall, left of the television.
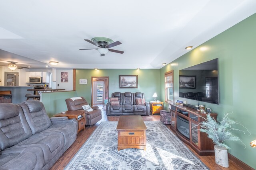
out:
M165 102L174 102L174 89L173 89L173 70L164 73L165 82Z

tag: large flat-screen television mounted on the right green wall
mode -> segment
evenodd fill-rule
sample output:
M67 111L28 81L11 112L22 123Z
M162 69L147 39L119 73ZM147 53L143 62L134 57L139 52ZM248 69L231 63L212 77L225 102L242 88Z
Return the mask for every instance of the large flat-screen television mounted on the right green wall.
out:
M179 70L179 97L219 104L218 58Z

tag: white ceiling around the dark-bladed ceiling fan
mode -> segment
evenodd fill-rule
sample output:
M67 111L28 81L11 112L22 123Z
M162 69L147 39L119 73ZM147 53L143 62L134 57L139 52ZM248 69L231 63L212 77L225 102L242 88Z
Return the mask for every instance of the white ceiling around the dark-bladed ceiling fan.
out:
M32 68L161 68L256 13L256 0L0 0L0 61ZM100 57L84 41L122 44ZM13 54L12 54L13 53ZM16 54L16 55L14 55ZM32 60L31 60L32 59Z

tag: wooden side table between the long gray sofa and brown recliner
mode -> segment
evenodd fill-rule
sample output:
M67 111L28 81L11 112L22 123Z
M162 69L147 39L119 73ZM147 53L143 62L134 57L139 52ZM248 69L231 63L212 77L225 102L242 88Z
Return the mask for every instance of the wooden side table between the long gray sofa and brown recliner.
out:
M81 117L80 117L81 115ZM60 117L60 116L66 116L68 119L73 119L75 118L78 121L78 132L80 132L82 129L85 130L85 125L86 125L86 115L84 110L75 110L75 111L66 111L66 113L58 113L54 115L55 117ZM79 117L78 117L79 116Z

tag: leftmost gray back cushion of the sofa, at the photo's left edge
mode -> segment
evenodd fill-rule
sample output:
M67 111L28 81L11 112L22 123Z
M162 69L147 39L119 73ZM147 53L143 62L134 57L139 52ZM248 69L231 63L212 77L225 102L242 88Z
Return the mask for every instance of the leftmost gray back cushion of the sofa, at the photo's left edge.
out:
M0 150L12 147L32 135L20 106L0 104Z

